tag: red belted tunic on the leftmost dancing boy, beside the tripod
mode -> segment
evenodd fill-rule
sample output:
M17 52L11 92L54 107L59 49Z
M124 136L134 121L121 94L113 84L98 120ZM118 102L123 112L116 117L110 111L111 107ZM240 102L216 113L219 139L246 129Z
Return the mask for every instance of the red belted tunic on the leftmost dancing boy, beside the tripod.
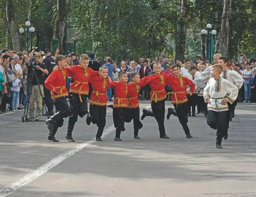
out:
M66 88L66 77L70 77L66 69L53 70L44 82L45 88L51 91L52 99L68 96ZM60 94L54 94L60 91Z

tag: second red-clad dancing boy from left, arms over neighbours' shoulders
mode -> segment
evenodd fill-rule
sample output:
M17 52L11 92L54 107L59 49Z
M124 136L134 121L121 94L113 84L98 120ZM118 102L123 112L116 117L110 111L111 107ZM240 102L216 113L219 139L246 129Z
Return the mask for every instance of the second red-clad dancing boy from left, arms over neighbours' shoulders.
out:
M66 138L69 142L75 142L72 137L72 131L77 121L78 115L83 118L88 113L87 97L89 93L89 79L92 73L96 74L98 71L93 71L87 68L89 65L89 57L86 54L80 56L79 65L66 67L68 73L73 75L74 82L70 84L70 108L72 115L68 120L68 129Z

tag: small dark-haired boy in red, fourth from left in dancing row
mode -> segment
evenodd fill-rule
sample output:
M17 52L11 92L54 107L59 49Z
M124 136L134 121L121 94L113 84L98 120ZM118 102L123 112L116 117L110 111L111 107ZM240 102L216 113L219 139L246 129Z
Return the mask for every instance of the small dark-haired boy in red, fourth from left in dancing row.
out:
M120 139L121 131L125 131L124 122L126 120L127 105L128 105L128 81L127 73L124 71L118 74L119 81L112 81L110 87L114 88L116 98L113 105L113 121L116 128L115 141L122 141ZM110 106L111 107L111 106Z

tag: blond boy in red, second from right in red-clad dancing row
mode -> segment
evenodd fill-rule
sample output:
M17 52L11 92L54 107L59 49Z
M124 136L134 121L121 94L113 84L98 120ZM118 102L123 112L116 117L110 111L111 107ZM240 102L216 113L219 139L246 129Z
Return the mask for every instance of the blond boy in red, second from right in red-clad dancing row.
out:
M162 67L160 63L154 63L153 70L155 74L146 77L148 78L147 80L149 81L149 86L152 89L152 91L150 92L152 110L143 109L141 120L143 120L146 116L155 117L158 123L160 138L170 139L165 134L164 128L164 112L166 98L165 80L170 75L165 74L165 72L161 72L161 69Z

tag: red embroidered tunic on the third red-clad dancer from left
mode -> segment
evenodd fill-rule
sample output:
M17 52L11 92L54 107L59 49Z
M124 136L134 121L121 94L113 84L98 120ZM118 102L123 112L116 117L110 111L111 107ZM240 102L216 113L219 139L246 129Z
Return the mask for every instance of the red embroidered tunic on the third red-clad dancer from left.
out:
M95 71L93 71L94 73ZM90 104L91 105L98 105L98 106L107 106L108 97L106 92L108 87L110 87L110 82L107 78L103 78L99 75L91 76L89 79L89 83L92 84L93 92L90 96ZM93 75L93 74L92 74Z

